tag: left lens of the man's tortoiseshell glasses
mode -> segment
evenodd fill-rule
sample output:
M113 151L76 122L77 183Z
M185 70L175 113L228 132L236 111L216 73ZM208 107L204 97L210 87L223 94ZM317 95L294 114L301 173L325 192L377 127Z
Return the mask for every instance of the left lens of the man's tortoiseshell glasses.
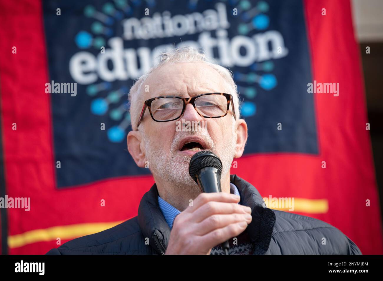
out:
M175 97L162 97L152 101L152 115L155 120L172 120L181 115L183 107L182 99Z

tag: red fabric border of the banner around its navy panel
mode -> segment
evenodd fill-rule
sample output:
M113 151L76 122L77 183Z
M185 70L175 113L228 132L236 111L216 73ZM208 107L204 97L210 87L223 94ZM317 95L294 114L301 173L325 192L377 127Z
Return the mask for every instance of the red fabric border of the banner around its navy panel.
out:
M252 183L263 197L294 197L295 213L339 228L363 254L382 254L380 203L350 3L303 3L313 80L340 85L337 97L313 94L319 154L247 154L235 159L231 174ZM57 188L51 97L44 86L49 81L49 38L42 4L3 0L0 22L2 188L8 197L30 198L31 206L29 211L6 210L8 233L2 236L8 237L8 253L44 254L136 216L142 195L154 182L151 176Z

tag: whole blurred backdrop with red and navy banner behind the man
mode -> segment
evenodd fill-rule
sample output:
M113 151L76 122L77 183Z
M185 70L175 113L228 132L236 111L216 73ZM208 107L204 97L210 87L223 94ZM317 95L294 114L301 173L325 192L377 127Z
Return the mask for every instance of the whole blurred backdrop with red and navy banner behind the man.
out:
M249 140L231 174L269 208L382 254L382 12L379 0L0 0L1 253L44 254L137 215L154 180L126 150L127 94L161 52L190 45L238 86Z

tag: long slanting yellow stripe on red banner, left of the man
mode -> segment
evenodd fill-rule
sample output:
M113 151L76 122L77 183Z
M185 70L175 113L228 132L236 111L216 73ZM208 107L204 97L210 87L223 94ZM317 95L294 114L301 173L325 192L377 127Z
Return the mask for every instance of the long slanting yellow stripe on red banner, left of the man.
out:
M45 229L34 229L21 234L8 236L8 247L18 248L28 244L44 241L74 239L77 237L97 233L111 228L124 221L109 223L80 223L67 226L53 226Z

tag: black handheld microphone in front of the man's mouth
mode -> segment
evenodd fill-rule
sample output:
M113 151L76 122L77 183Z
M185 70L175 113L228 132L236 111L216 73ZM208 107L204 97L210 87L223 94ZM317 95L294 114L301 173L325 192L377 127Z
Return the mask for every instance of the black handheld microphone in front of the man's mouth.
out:
M198 151L190 159L189 174L202 192L221 192L222 162L209 150ZM230 255L229 241L221 244L226 255Z

